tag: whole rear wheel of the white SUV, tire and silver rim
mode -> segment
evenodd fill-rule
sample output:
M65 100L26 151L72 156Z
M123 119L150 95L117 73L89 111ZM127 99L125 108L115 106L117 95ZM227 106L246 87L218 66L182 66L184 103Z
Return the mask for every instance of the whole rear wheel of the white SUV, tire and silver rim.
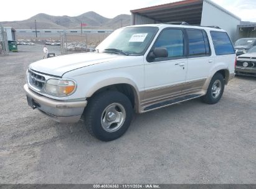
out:
M206 95L201 97L202 101L207 104L216 104L224 92L224 87L224 77L222 74L216 73L212 77Z

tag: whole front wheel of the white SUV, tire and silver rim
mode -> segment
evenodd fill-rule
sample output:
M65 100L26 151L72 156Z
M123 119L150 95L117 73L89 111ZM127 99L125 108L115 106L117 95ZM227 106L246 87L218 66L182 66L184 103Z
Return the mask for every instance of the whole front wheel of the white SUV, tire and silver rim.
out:
M92 136L112 141L121 137L130 126L133 107L125 94L104 91L89 99L84 116L85 126Z

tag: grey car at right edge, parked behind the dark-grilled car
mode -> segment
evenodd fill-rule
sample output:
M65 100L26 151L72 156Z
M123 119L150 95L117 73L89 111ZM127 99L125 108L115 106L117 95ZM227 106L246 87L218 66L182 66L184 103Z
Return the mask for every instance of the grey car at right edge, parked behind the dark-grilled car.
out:
M235 42L235 53L237 56L247 53L256 45L256 38L242 38Z

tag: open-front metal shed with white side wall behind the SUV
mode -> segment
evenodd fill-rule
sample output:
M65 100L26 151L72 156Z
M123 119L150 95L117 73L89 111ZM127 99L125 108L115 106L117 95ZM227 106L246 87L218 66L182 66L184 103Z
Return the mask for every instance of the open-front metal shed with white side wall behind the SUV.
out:
M131 25L181 21L216 25L227 30L233 41L239 38L237 25L241 19L209 0L185 0L131 11Z

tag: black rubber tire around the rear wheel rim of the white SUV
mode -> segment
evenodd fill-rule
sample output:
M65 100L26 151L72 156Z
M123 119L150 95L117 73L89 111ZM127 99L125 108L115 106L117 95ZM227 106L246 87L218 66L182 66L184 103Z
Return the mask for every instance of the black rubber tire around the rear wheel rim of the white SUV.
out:
M217 83L221 83L221 86L220 86L220 93L218 96L214 96L213 93L213 90L212 90L212 87L213 85L217 82ZM216 73L213 77L212 77L212 80L208 86L208 89L207 89L207 93L206 95L202 96L201 99L204 103L207 103L207 104L216 104L217 102L219 102L220 98L222 97L222 94L224 92L224 88L225 88L225 82L224 82L224 77L222 74L220 73Z

